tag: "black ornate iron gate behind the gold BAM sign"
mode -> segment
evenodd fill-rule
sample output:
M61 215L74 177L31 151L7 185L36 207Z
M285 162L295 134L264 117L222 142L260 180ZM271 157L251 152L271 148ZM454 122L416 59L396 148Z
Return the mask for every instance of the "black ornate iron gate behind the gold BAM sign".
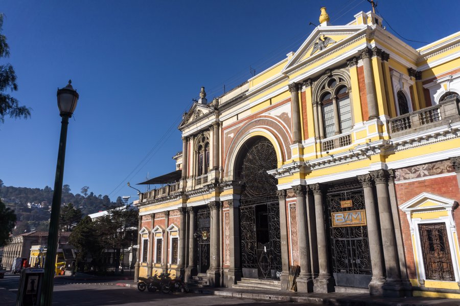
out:
M341 207L350 201L351 207ZM343 203L343 202L342 202ZM350 205L350 202L347 203ZM337 286L367 288L371 281L371 255L367 226L332 227L332 213L365 209L363 189L358 182L331 186L326 194L331 268Z

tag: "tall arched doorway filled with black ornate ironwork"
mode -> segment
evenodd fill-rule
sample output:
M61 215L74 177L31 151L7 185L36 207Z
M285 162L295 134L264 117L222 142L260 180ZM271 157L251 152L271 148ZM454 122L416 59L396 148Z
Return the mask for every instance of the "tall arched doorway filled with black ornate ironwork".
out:
M264 137L245 143L236 164L242 183L240 206L243 277L277 278L281 272L278 180L267 173L277 167L277 154Z

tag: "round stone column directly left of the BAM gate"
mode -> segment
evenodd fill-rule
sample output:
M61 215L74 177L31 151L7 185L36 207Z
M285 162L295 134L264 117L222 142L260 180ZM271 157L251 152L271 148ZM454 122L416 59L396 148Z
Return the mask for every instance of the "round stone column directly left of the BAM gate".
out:
M319 274L315 279L313 291L320 293L333 292L335 280L329 271L328 239L326 236L326 220L324 218L323 192L319 184L310 185L315 199L316 237L318 244Z

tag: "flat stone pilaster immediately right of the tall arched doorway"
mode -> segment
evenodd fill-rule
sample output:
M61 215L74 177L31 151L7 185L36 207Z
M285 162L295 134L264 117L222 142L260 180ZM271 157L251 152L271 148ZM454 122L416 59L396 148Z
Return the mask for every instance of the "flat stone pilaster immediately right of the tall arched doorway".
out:
M287 290L289 282L289 253L286 226L286 190L278 190L277 195L280 200L281 290Z

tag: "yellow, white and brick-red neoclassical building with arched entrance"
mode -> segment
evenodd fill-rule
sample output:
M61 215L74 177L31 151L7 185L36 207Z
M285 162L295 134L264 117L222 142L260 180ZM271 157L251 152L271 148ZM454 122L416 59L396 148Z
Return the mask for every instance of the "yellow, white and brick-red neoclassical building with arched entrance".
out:
M183 116L142 193L137 275L460 297L460 32L420 49L359 12ZM423 29L421 29L423 30Z

